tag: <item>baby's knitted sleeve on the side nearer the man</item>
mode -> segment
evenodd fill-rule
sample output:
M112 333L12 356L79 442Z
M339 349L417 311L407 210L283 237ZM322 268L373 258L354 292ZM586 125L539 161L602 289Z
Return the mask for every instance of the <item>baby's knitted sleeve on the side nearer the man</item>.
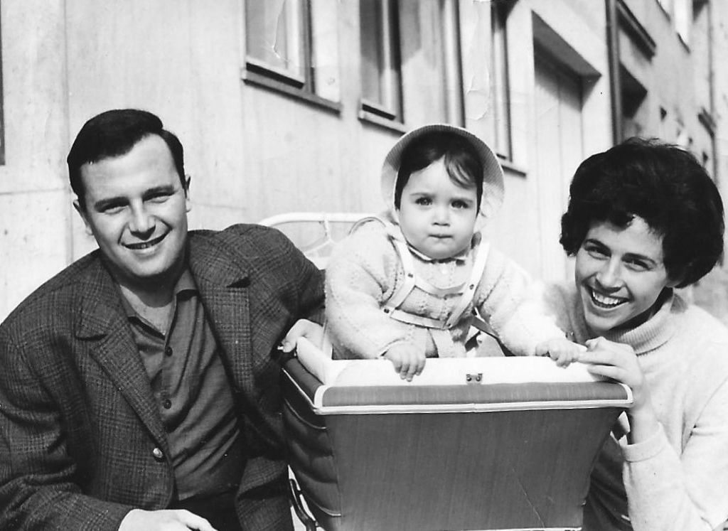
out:
M384 229L365 224L334 249L326 267L326 326L342 357L377 358L398 342L412 339L414 326L381 311L392 296L396 251Z

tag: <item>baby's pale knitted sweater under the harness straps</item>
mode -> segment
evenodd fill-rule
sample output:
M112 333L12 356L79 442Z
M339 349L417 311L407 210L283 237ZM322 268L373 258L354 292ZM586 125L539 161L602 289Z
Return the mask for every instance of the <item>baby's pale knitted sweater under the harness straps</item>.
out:
M479 242L480 235L474 238L470 252L457 259L431 261L414 255L415 270L437 288L464 283L472 273ZM326 267L326 318L331 342L340 357L376 358L400 342L414 344L428 356L464 356L473 307L513 353L532 355L538 342L563 337L552 320L521 304L530 285L529 276L494 248L488 252L473 301L451 329L426 329L382 312L382 304L403 280L400 257L381 223L363 224L336 246ZM458 302L459 295L440 297L414 288L400 308L440 320L448 318Z

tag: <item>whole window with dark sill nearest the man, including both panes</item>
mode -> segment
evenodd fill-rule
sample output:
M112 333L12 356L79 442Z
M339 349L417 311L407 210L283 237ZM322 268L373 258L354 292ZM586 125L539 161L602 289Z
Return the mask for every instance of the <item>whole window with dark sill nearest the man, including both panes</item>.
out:
M245 79L315 103L338 102L337 21L330 0L245 0Z

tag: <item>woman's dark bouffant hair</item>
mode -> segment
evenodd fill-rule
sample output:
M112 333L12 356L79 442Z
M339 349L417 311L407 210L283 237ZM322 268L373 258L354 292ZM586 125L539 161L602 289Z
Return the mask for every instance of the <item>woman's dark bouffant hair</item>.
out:
M695 157L657 140L630 138L587 158L571 181L561 245L573 256L591 225L627 227L639 216L662 236L665 269L678 288L703 278L723 252L723 202Z

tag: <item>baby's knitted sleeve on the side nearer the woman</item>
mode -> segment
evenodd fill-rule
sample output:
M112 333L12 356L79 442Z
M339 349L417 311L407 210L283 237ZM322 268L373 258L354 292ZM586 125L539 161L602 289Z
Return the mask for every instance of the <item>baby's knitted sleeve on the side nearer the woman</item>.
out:
M515 355L534 355L540 342L566 337L547 310L541 284L492 247L479 292L478 312Z

